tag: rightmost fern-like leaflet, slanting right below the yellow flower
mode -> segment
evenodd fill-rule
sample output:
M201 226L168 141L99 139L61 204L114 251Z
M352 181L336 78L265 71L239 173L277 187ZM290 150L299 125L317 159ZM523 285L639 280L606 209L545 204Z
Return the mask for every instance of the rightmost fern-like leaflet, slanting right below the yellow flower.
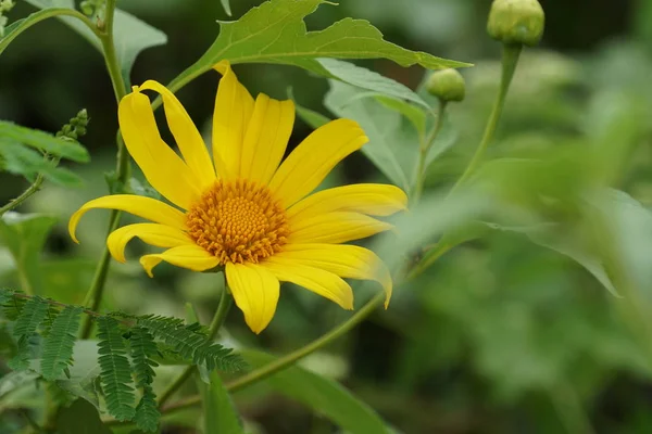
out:
M205 363L209 370L236 371L244 367L244 361L238 355L233 354L230 348L211 343L196 324L186 326L181 319L160 316L141 317L138 323L171 345L185 359L196 365Z

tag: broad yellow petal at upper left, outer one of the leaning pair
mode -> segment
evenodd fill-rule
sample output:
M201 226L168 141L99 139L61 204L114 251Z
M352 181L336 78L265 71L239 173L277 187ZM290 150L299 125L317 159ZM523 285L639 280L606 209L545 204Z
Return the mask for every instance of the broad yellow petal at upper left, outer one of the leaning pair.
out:
M188 209L201 184L184 161L161 139L150 100L134 88L120 102L117 117L125 145L142 174L172 203Z

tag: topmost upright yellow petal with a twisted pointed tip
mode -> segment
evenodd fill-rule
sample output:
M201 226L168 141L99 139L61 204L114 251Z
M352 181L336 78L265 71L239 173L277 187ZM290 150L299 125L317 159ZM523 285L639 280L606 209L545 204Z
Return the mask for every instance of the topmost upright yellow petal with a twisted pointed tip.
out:
M238 81L227 61L214 66L222 74L213 112L213 156L217 175L223 179L240 176L240 157L244 132L253 112L253 98Z

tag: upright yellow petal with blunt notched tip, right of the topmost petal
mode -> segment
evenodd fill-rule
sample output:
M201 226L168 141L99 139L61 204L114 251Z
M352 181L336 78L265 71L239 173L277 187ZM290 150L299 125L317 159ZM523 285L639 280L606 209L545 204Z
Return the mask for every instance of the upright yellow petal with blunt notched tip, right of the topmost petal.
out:
M276 101L266 94L255 99L244 133L240 177L265 186L285 153L294 124L294 103Z

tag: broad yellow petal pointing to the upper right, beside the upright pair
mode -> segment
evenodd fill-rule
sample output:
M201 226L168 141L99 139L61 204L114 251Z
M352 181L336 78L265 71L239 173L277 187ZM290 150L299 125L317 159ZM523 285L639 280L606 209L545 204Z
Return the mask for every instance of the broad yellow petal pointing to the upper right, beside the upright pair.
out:
M335 165L367 141L355 122L329 122L305 138L283 162L269 182L269 189L288 208L310 194Z

